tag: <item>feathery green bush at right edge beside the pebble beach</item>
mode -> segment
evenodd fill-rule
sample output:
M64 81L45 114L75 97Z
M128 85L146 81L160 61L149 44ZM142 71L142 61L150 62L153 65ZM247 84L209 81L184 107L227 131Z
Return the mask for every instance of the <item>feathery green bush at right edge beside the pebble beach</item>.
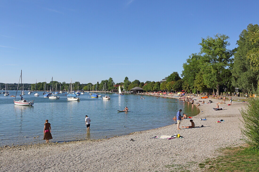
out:
M247 137L244 139L251 146L259 146L259 97L248 98L250 106L241 110L244 129L242 133Z

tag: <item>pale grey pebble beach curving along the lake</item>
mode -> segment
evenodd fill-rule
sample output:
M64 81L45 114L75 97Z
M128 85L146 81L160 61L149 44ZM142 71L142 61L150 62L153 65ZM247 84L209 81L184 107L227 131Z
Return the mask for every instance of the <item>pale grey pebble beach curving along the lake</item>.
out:
M205 99L205 102L207 100ZM212 101L222 100L212 99ZM228 104L227 101L226 103ZM177 130L176 125L172 124L109 139L1 148L0 169L1 171L200 171L197 164L206 158L219 155L218 149L243 144L240 140L242 123L238 118L241 116L239 109L245 107L246 103L234 102L232 106L227 104L219 105L225 107L222 111L212 111L216 106L215 103L201 104L200 113L193 117L193 120L196 126L204 125L202 128ZM207 120L200 121L200 118ZM225 122L216 123L220 119ZM182 120L181 125L189 124L188 119ZM150 139L153 136L178 133L184 138ZM131 138L135 141L130 141Z

